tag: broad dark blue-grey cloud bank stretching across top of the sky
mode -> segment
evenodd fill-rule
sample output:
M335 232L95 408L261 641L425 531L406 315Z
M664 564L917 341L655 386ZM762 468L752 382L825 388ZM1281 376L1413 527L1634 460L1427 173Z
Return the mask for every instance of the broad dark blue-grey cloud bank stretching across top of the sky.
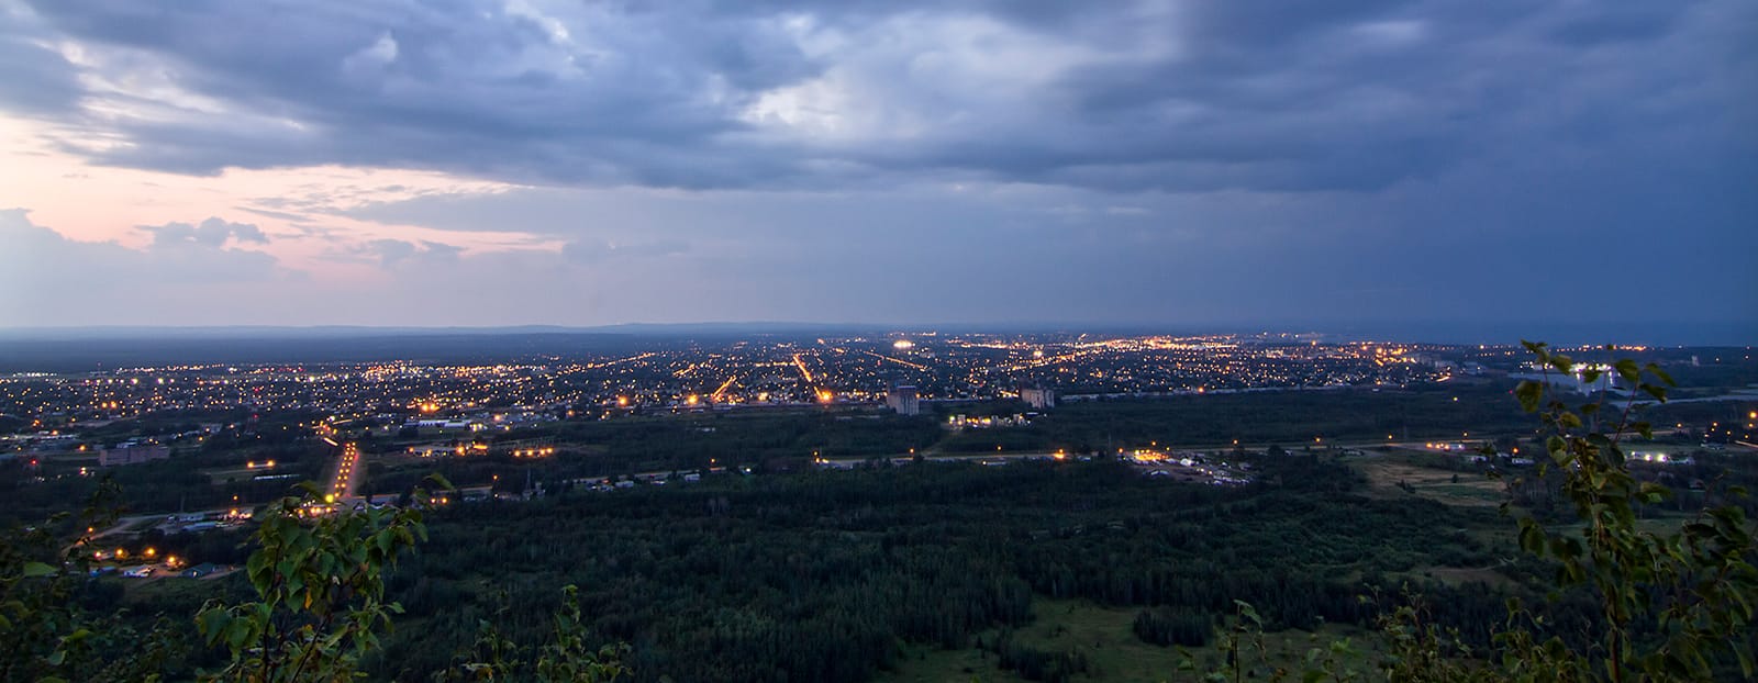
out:
M35 83L0 107L134 142L84 151L114 165L679 188L1378 190L1656 125L1751 155L1711 144L1751 104L1739 0L529 5L40 2L81 68L222 111L81 116L74 67L16 37L0 65Z

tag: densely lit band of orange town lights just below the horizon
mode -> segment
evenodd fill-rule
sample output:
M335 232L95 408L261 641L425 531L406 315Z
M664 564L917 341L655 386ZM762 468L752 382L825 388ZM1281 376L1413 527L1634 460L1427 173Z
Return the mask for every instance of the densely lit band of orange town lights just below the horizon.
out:
M1162 395L1447 381L1510 349L1324 344L1301 335L939 335L668 344L621 356L538 356L490 365L158 365L0 377L0 413L39 425L155 411L318 411L329 421L536 420L589 411L1025 399L1034 407ZM561 413L557 413L561 411Z

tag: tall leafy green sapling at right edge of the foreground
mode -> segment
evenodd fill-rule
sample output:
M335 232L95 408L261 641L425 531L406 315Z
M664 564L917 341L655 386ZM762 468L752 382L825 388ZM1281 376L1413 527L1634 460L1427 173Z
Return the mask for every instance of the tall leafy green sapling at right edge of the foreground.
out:
M1607 372L1577 367L1545 344L1524 344L1547 374L1580 374L1591 385ZM1653 427L1635 420L1637 397L1665 402L1672 377L1654 363L1638 367L1630 358L1612 363L1610 372L1633 386L1621 409L1609 404L1610 392L1568 406L1545 381L1522 381L1515 390L1521 407L1536 413L1547 432L1549 462L1540 476L1551 467L1563 471L1563 497L1582 521L1579 530L1549 530L1521 518L1521 548L1558 562L1559 588L1584 586L1595 593L1603 634L1591 651L1568 650L1556 637L1533 644L1514 629L1503 634L1503 643L1510 657L1524 650L1533 660L1549 660L1552 671L1586 679L1714 679L1721 657L1732 657L1740 674L1751 678L1746 629L1758 608L1753 527L1737 506L1702 509L1670 534L1637 525L1640 506L1660 504L1672 492L1631 476L1624 442L1635 435L1653 439Z

